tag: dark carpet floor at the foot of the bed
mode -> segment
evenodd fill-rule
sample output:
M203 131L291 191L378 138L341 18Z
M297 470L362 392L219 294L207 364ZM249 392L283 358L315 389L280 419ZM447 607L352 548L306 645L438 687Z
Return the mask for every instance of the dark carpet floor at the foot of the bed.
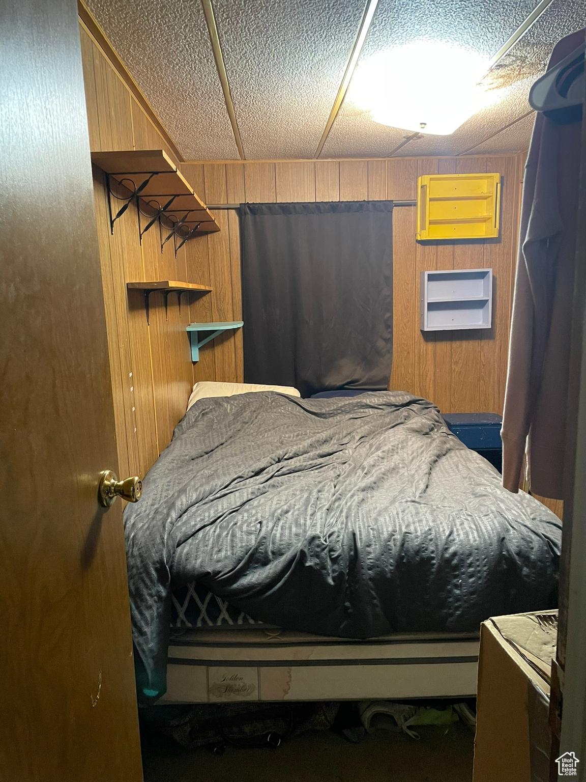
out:
M470 782L473 734L462 723L418 727L420 740L377 730L359 744L332 731L279 748L188 752L143 730L145 782Z

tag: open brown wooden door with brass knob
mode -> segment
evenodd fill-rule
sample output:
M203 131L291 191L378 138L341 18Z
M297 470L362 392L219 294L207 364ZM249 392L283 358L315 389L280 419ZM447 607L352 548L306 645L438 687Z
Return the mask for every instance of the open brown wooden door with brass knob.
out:
M142 779L76 0L0 3L0 779ZM123 476L126 477L126 476Z

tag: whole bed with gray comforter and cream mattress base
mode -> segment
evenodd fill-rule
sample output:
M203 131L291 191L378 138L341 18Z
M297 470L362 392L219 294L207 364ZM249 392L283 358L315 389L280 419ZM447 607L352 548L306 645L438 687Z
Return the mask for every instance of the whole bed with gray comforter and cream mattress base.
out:
M403 392L200 397L125 529L143 702L471 695L556 601L559 519Z

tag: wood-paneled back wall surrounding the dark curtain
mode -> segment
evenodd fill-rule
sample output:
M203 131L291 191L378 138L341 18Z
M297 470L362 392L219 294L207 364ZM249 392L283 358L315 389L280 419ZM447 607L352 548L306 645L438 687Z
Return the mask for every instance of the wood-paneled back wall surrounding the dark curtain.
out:
M181 163L207 203L414 199L421 174L498 171L502 174L502 228L498 239L477 242L416 242L413 206L393 215L394 339L389 387L426 396L444 412L502 413L509 321L520 204L521 156L395 158L245 163ZM226 285L223 304L238 317L238 222L234 212L216 213L224 230L209 237L208 269L200 282ZM494 273L493 325L489 330L425 333L419 328L419 275L429 269L490 267ZM232 281L229 289L227 281ZM210 303L195 304L209 314ZM238 312L240 310L238 309ZM216 314L213 313L213 317ZM222 372L241 376L241 335ZM228 340L230 341L230 339ZM228 350L228 348L226 348ZM232 364L234 350L235 364ZM196 375L211 377L211 365ZM216 362L217 376L217 362ZM222 375L223 377L224 375Z

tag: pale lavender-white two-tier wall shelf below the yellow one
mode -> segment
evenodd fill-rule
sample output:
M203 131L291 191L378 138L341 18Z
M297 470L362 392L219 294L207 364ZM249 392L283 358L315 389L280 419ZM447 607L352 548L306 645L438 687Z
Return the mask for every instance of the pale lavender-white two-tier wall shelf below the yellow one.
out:
M422 332L491 328L492 269L422 271Z

